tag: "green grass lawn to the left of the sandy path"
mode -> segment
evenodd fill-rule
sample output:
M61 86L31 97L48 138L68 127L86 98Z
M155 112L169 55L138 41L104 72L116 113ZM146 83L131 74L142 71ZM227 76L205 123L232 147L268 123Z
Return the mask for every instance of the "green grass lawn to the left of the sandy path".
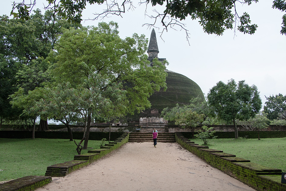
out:
M101 141L89 140L93 149L100 148L100 144ZM0 151L0 182L30 175L44 176L48 166L71 161L77 155L76 144L67 139L0 138ZM87 151L82 150L81 154Z

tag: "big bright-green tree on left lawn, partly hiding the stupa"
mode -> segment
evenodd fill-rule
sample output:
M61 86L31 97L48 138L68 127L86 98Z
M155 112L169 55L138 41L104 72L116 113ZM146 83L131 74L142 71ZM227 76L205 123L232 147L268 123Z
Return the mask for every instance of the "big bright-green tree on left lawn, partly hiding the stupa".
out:
M86 124L87 148L92 119L107 119L151 106L148 98L166 89L165 67L147 61L147 40L134 34L121 39L117 23L64 30L50 53L55 84L69 81L79 90L79 111Z

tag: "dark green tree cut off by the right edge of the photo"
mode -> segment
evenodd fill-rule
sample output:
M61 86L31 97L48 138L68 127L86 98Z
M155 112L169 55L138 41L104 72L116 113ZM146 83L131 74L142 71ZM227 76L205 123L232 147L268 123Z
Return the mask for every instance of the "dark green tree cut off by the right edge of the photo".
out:
M265 96L266 97L266 96ZM266 102L263 107L265 113L267 113L267 118L270 120L274 119L284 119L286 120L286 95L282 94L272 95L266 97Z

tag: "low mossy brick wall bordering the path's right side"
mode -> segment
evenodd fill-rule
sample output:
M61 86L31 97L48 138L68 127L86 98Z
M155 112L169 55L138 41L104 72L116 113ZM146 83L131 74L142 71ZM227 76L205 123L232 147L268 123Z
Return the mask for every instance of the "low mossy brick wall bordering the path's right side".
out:
M286 191L286 184L281 183L281 170L279 169L264 167L233 154L194 144L182 133L176 133L176 142L213 167L258 191Z

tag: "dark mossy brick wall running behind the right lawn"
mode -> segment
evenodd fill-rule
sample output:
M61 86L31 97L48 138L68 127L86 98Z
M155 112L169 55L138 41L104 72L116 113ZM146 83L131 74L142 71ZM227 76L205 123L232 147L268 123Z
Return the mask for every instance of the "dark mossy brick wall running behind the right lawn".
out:
M191 132L182 132L186 138L192 138ZM196 134L196 133L195 133ZM235 138L234 132L221 132L217 131L214 133L217 138ZM258 138L257 131L239 131L239 137L245 138ZM283 138L286 137L286 131L260 131L259 132L260 138Z

